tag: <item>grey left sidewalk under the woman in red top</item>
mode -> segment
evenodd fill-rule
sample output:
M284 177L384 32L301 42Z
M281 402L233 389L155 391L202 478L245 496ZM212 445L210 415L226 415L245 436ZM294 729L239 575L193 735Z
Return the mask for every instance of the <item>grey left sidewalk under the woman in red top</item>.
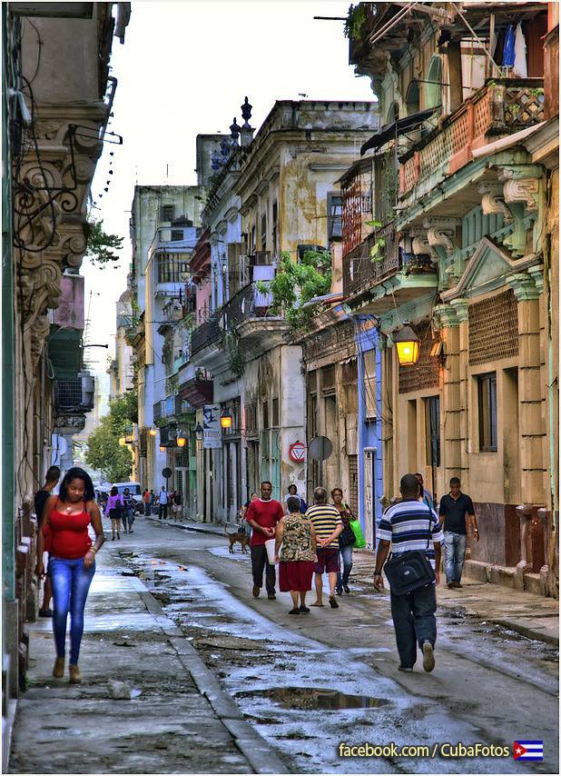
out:
M30 625L29 689L18 701L14 773L284 773L192 644L111 543L85 611L83 682L51 675L50 620ZM142 691L113 700L108 681Z

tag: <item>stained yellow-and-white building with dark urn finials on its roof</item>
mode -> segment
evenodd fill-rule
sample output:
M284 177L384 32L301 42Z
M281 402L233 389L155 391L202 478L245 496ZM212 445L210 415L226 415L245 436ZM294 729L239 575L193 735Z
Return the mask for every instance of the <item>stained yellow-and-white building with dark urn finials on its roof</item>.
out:
M212 317L192 336L192 361L212 373L213 402L232 419L221 449L209 451L212 519L220 521L235 519L261 480L271 480L277 498L290 483L308 491L305 460L290 457L308 433L301 344L266 288L282 254L297 262L308 248L328 247L335 181L378 125L373 103L286 101L251 139L247 101L242 114L205 210L211 243L215 234L224 245L211 262Z

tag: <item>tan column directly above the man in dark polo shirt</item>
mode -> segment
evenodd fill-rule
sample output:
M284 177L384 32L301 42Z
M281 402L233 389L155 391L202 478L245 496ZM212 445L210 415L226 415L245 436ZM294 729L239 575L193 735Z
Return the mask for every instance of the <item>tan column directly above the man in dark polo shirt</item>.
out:
M456 311L449 304L439 304L435 313L446 353L441 412L444 420L442 460L445 482L448 483L450 477L458 476L462 467L459 321Z

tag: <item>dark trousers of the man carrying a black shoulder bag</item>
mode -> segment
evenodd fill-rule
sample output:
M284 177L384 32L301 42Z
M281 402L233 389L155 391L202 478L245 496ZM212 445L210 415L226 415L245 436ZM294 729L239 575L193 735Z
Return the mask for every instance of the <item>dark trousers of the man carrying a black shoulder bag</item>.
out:
M406 595L392 592L390 601L399 660L406 668L413 668L417 644L422 648L424 642L430 642L434 647L437 641L437 586L429 584Z

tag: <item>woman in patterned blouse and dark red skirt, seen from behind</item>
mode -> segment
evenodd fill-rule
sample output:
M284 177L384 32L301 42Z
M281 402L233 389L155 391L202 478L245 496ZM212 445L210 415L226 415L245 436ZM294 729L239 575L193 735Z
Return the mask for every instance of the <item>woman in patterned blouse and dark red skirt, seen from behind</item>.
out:
M287 506L289 513L277 525L275 542L279 587L281 592L290 591L292 596L289 614L308 614L310 609L306 606L306 593L311 590L316 566L316 534L308 518L300 513L298 496L290 496Z

